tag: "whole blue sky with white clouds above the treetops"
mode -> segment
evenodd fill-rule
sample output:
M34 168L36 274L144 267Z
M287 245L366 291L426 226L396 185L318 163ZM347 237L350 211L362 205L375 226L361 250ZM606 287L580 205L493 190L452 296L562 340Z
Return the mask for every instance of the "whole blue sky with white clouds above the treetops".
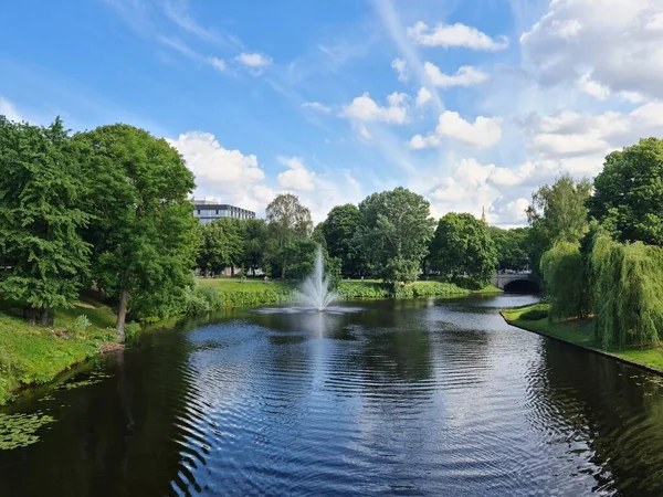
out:
M145 128L259 215L402 186L514 226L663 137L663 0L23 0L0 25L0 114Z

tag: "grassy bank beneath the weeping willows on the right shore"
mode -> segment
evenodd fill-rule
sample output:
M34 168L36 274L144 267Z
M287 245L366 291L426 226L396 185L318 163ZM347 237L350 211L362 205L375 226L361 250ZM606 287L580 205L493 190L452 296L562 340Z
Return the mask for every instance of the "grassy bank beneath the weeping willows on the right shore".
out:
M663 347L649 349L602 350L596 346L593 325L591 319L569 319L560 322L549 322L547 304L505 309L502 315L511 325L535 331L548 337L557 338L600 353L621 359L623 361L642 366L663 373ZM539 319L536 319L540 317Z

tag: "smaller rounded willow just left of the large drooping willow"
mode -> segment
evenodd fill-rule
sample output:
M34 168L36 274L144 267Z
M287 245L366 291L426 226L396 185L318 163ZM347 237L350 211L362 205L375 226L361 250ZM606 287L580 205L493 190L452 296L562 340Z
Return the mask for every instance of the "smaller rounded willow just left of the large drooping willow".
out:
M580 245L557 242L541 256L540 271L550 303L550 319L583 317L587 314L587 277Z

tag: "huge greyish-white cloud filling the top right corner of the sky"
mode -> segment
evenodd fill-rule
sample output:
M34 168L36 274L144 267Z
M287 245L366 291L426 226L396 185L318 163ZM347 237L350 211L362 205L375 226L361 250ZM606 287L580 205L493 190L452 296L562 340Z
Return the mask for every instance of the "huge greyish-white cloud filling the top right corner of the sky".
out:
M663 2L556 0L520 36L527 68L545 85L591 74L593 92L663 98ZM600 91L604 93L603 89Z

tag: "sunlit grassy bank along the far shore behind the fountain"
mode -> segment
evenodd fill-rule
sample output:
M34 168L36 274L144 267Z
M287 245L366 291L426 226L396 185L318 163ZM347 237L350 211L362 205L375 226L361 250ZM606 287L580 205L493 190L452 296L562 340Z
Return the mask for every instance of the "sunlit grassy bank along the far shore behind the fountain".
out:
M223 307L245 307L257 305L283 304L296 299L296 284L291 282L273 282L267 284L260 279L239 278L199 278L201 288L214 288ZM499 292L499 290L497 290ZM344 279L336 293L343 300L360 300L375 298L414 298L445 297L466 295L470 292L451 283L417 282L394 290L376 279Z

